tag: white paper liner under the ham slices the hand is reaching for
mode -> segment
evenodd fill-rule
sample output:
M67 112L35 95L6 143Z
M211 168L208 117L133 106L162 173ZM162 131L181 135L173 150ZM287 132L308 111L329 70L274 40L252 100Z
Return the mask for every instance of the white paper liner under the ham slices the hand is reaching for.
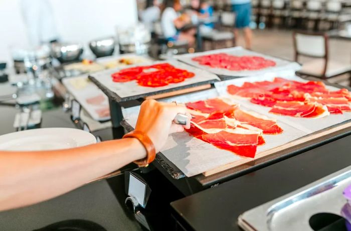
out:
M218 96L216 89L209 89L206 91L171 97L164 101L171 102L175 100L180 103L185 103ZM250 110L245 106L241 106L241 108L244 110ZM125 120L133 128L136 124L139 109L140 106L122 109ZM307 135L307 133L282 122L278 122L278 125L284 130L284 132L279 135L263 135L266 144L258 147L256 155ZM209 143L190 136L187 132L170 135L161 152L188 177L235 161L247 159L246 157L235 155L232 152L218 149Z

